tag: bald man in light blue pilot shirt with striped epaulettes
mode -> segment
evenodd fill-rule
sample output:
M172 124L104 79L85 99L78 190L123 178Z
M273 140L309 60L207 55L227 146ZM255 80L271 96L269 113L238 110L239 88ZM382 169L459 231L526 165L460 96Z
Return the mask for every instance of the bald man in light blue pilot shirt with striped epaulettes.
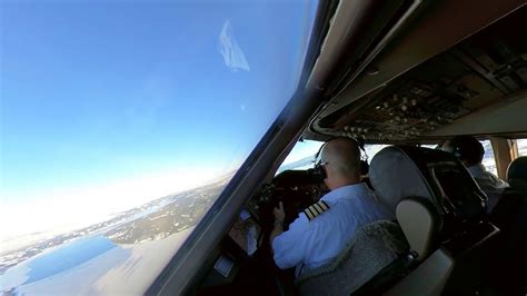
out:
M317 166L330 189L308 207L284 231L284 205L274 209L270 235L276 265L296 267L296 276L329 263L364 225L390 219L368 186L360 181L360 151L357 142L337 138L326 142Z

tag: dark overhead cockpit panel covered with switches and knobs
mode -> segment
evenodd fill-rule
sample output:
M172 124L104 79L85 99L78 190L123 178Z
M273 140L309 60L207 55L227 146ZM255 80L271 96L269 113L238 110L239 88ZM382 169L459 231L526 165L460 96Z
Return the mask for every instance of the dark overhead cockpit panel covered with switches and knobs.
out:
M527 88L525 28L526 7L321 118L317 126L330 136L404 141L426 138L470 114L503 105Z

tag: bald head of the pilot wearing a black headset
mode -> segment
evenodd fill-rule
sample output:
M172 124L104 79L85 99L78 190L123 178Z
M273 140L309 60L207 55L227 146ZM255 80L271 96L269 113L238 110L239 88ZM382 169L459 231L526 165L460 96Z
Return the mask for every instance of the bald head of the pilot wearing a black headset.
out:
M322 148L321 160L326 164L329 189L360 181L360 150L355 140L336 138L328 141Z

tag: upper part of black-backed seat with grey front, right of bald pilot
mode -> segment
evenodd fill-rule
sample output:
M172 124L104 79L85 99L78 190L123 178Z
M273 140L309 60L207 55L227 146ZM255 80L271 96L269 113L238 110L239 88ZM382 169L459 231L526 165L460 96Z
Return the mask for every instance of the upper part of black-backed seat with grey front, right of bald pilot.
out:
M369 178L380 200L395 213L408 197L430 200L440 216L479 219L486 196L451 154L414 146L389 146L371 160Z

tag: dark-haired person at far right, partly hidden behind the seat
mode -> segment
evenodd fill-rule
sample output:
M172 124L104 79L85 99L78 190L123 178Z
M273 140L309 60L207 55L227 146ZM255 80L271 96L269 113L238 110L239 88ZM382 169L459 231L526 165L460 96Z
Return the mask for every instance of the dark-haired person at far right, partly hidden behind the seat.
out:
M487 195L487 211L491 213L509 185L488 171L481 164L485 149L473 136L456 136L443 149L453 152L468 169L479 188Z

